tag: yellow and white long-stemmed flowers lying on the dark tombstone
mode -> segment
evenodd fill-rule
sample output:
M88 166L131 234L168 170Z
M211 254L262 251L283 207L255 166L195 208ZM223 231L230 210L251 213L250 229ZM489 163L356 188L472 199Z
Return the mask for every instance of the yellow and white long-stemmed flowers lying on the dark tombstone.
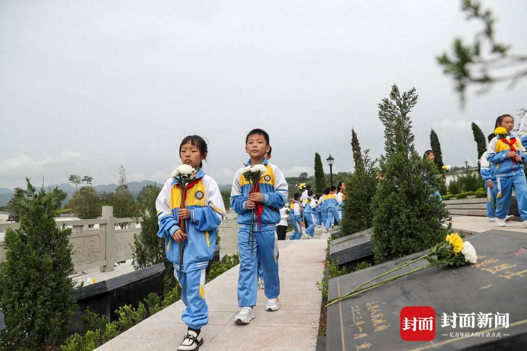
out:
M409 270L406 273L399 274L395 277L382 280L381 282L373 283L374 280L377 280L380 277L383 277L387 274L395 272L395 270L397 269L404 268L406 266L409 266L423 259L426 259L428 261L428 264L421 266L421 267L414 268L412 270ZM360 295L362 293L367 292L368 290L373 290L386 283L392 282L392 280L399 279L401 277L404 277L405 275L418 272L419 270L423 270L428 267L433 267L433 266L439 267L443 265L459 267L459 266L463 266L467 264L474 264L476 262L477 262L477 255L476 255L476 250L474 249L474 246L472 246L470 242L463 242L463 239L456 233L451 233L446 236L445 242L432 246L432 248L430 249L430 252L428 252L427 254L417 257L415 259L409 260L407 262L404 262L396 266L395 268L388 270L388 272L386 273L379 274L373 279L370 279L367 282L360 284L359 286L357 286L355 289L353 289L349 293L344 294L343 296L337 297L333 300L330 300L326 304L326 306L333 305L334 303L342 301L349 297ZM370 284L370 283L373 283L373 284Z

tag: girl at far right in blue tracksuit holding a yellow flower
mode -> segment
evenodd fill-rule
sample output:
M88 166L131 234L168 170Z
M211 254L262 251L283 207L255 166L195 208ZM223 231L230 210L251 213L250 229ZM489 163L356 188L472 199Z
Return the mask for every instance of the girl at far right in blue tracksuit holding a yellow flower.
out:
M523 220L523 226L527 228L527 182L523 164L526 152L519 138L511 134L514 127L514 118L510 115L502 115L496 119L496 127L505 128L504 137L497 134L489 143L487 148L487 161L494 168L496 176L496 225L506 226L505 217L511 204L512 189L518 210Z

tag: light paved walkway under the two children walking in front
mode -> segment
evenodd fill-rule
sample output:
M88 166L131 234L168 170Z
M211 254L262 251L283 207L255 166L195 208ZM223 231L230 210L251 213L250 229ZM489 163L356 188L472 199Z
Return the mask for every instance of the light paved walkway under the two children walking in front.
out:
M249 325L233 322L239 309L239 266L209 282L205 294L210 320L202 330L204 344L200 351L314 351L322 299L315 283L323 276L327 237L322 234L310 240L279 241L280 309L266 312L267 298L264 290L258 290L256 318ZM97 350L173 351L187 330L181 322L183 309L179 300Z

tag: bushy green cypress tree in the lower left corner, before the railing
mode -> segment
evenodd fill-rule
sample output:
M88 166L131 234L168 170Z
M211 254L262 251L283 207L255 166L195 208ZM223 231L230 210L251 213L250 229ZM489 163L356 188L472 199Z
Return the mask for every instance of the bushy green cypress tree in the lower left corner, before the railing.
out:
M76 304L72 229L57 228L55 190L37 192L27 179L19 229L7 228L5 260L0 263L0 310L6 328L0 332L3 349L42 349L63 337ZM59 194L60 195L60 194Z

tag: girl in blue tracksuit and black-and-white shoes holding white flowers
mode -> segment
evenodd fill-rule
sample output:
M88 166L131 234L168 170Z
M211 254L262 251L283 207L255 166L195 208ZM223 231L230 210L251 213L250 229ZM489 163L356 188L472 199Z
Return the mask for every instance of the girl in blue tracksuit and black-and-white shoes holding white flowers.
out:
M177 177L165 182L155 202L159 232L167 258L174 265L174 276L181 286L181 299L187 306L181 319L188 326L178 350L197 350L203 344L201 328L209 322L205 301L205 269L214 255L216 230L225 216L218 184L206 175L202 161L207 144L197 135L187 136L179 146L181 162L197 169L187 186L185 208L181 208L181 190ZM184 222L184 232L181 230ZM180 267L180 246L183 260Z

